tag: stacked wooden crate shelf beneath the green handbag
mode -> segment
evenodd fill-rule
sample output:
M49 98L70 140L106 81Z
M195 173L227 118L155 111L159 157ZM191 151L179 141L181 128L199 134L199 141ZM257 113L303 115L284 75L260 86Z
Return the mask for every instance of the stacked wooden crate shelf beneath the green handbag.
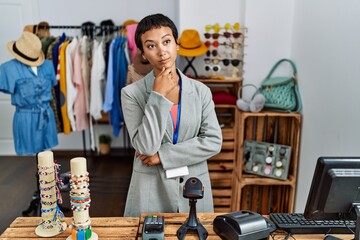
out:
M301 114L241 112L239 115L239 139L232 183L231 211L251 210L261 214L293 212L299 161ZM242 169L245 140L291 146L288 178L277 180L244 174Z

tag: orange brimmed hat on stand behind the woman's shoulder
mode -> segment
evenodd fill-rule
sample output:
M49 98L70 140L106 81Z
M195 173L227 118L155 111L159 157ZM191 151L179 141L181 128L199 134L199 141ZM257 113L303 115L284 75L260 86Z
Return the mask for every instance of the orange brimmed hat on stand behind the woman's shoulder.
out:
M185 57L197 57L208 51L208 48L200 40L199 33L194 29L186 29L179 38L178 54Z

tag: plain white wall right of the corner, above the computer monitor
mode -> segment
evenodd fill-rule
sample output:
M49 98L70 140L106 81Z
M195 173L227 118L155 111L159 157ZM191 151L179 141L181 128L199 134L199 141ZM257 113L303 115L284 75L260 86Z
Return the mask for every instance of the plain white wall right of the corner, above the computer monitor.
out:
M295 1L292 57L303 97L296 209L319 156L360 156L360 1Z

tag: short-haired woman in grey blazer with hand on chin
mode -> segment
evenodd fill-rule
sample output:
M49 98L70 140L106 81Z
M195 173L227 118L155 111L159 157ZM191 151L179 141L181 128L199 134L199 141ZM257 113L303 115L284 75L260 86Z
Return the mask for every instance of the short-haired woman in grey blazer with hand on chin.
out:
M198 212L213 212L207 159L221 150L222 134L210 89L176 68L178 31L162 14L143 18L136 45L153 70L122 89L121 102L134 156L124 216L188 212L183 186L204 185Z

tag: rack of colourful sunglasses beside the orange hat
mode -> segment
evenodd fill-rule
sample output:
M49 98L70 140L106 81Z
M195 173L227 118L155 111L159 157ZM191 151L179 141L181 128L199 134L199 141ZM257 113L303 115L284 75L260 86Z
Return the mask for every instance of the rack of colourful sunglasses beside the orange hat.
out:
M205 45L209 48L204 57L204 69L211 79L240 79L244 64L245 28L239 23L205 26Z

